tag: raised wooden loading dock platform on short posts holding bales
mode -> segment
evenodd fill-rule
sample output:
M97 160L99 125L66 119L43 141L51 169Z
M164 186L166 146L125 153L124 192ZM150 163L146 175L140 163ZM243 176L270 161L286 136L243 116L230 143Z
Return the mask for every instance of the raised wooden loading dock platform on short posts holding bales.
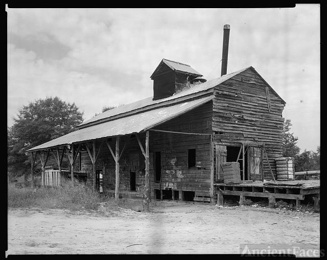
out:
M215 183L214 203L223 205L223 195L240 196L240 205L246 197L268 198L269 206L275 204L275 199L296 200L296 208L306 195L314 197L315 210L319 209L320 180L292 181L253 181L240 184Z

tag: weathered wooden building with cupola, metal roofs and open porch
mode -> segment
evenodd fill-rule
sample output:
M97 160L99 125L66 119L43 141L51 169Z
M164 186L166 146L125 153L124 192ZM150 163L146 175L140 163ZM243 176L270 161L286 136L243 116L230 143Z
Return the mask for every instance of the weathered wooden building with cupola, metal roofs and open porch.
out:
M65 154L73 169L79 154L90 181L102 174L103 192L148 201L213 202L226 161L240 162L242 180L273 179L285 101L253 67L206 81L190 65L162 59L151 79L153 97L30 149L32 164L38 153L44 172L53 153L60 170Z

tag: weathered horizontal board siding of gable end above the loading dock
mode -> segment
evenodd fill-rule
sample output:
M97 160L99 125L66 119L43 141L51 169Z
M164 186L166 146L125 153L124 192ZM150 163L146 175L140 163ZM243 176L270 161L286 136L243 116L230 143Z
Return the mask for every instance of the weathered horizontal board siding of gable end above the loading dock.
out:
M214 143L264 142L276 175L274 158L282 156L282 100L250 68L216 86L214 94L213 131L219 133L214 136ZM271 179L266 160L264 168L265 179Z

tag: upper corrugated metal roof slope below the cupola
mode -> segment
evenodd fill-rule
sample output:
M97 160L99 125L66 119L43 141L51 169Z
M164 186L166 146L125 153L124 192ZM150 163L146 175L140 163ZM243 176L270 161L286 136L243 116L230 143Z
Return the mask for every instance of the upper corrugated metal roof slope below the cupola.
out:
M174 100L174 99L181 98L181 97L187 97L187 96L189 96L191 94L194 94L194 93L199 93L199 96L200 96L201 91L207 90L209 88L213 88L213 87L223 83L224 81L230 79L231 77L243 72L244 70L246 70L248 68L249 67L240 69L237 72L226 74L226 75L224 75L224 76L222 76L220 78L217 78L217 79L208 80L208 81L206 81L206 82L204 82L202 84L199 84L199 85L193 85L191 88L184 89L184 90L182 90L182 91L180 91L178 93L175 93L171 97L167 97L167 98L159 99L159 100L152 100L152 97L149 97L147 99L139 100L139 101L136 101L136 102L124 105L124 106L120 106L120 107L116 107L114 109L107 110L107 111L105 111L105 112L103 112L103 113L101 113L101 114L99 114L97 116L94 116L91 119L83 122L79 126L83 126L83 125L89 124L91 122L96 122L96 121L100 121L100 120L107 119L107 118L109 119L111 116L115 116L115 115L118 115L118 114L123 115L126 112L131 112L131 111L136 110L136 109L141 109L141 108L146 109L146 107L148 107L150 105L156 105L157 104L157 106L160 106L160 103L162 103L162 102Z

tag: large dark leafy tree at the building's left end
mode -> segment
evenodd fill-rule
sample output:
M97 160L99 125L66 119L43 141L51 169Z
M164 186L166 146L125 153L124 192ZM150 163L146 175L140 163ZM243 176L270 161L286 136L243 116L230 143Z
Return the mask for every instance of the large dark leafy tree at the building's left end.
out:
M46 97L23 106L8 128L8 171L22 175L30 171L26 150L75 130L83 122L83 113L75 103L58 97Z

